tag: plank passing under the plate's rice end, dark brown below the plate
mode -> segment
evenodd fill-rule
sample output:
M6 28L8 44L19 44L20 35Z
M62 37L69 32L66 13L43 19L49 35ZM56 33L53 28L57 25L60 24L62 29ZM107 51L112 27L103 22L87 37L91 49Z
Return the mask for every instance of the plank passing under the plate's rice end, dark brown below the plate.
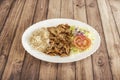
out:
M36 12L34 15L34 23L46 18L48 0L38 0ZM38 80L39 79L40 60L26 54L21 80Z

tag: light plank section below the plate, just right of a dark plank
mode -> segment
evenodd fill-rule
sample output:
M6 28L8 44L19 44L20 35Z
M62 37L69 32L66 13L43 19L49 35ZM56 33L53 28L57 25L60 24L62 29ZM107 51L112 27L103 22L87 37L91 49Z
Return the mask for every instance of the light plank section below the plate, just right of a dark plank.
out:
M57 64L41 61L39 80L56 80Z

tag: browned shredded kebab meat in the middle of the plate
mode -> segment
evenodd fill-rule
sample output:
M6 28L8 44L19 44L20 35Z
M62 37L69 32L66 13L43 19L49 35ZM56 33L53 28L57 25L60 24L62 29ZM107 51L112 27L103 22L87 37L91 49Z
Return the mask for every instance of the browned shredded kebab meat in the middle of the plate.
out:
M69 56L71 46L70 26L67 24L60 24L57 27L48 27L49 45L44 51L48 55Z

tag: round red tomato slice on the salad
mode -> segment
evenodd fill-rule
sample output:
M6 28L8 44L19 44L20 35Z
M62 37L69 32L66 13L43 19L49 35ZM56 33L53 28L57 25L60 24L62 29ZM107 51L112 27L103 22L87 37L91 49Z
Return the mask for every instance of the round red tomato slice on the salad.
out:
M75 36L74 45L79 49L85 50L90 47L91 40L84 35Z

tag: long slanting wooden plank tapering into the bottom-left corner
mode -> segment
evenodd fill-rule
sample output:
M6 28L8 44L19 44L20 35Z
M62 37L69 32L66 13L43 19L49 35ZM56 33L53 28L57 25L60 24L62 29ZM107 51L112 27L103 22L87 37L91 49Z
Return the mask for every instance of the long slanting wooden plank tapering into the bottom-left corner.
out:
M0 79L2 77L2 73L7 62L8 53L14 38L23 5L24 0L17 0L15 2L6 20L4 29L0 34Z

